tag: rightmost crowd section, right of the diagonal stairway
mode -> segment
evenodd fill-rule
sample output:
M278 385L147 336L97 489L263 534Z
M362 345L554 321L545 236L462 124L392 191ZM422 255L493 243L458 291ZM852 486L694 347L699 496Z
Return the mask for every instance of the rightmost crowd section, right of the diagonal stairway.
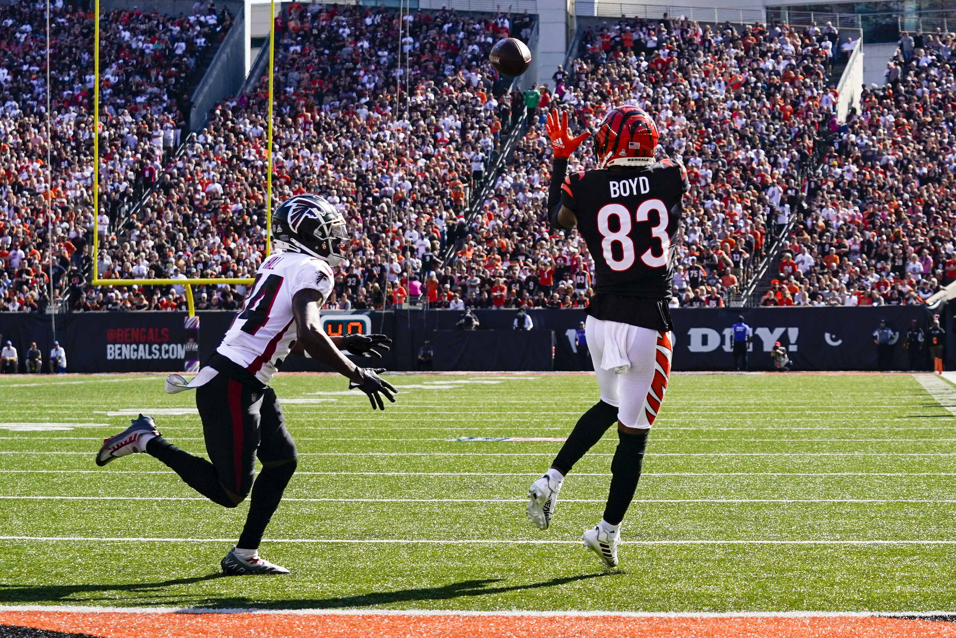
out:
M824 131L819 204L764 304L917 304L956 281L952 36L915 37L860 113Z

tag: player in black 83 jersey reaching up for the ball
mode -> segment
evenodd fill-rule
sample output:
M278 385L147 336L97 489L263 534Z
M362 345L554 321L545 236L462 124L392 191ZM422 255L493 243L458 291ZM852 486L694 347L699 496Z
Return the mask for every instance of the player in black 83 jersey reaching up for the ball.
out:
M578 420L551 469L532 484L528 516L548 528L564 476L617 423L619 444L604 516L581 538L614 567L620 521L634 498L647 433L670 375L673 241L689 188L687 173L680 161L655 162L657 127L636 106L612 109L601 121L596 170L566 176L568 157L590 135L571 137L567 114L553 111L545 130L554 152L548 198L552 227L576 226L595 260L595 296L585 332L600 401Z

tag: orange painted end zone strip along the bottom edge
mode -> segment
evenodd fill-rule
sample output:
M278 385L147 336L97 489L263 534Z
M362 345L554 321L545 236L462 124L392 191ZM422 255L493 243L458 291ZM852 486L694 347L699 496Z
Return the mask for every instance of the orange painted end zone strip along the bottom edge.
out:
M0 625L102 638L956 638L956 625L859 616L519 616L3 611Z

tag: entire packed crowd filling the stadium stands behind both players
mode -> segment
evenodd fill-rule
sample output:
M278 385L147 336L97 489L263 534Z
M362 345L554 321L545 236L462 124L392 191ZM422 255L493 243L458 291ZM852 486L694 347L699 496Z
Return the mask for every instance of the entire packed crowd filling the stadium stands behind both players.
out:
M228 11L102 16L93 264L81 206L92 180L92 20L54 10L51 188L45 15L25 7L0 6L3 309L41 310L51 273L73 311L185 307L184 286L124 278L253 275L265 254L268 78L191 122L195 135L185 115ZM836 30L621 18L585 28L568 68L522 93L497 77L488 51L532 27L527 14L400 18L318 4L276 18L272 197L315 191L345 214L352 257L329 307L586 306L590 255L576 231L551 231L544 210L554 106L573 110L580 129L637 104L658 121L661 156L684 160L674 306L748 302L745 292L764 305L918 302L956 278L945 210L952 82L939 38L901 57L891 84L841 124ZM594 167L590 149L572 169ZM761 263L772 266L763 278ZM87 285L94 267L117 283ZM194 293L197 309L232 310L246 288Z

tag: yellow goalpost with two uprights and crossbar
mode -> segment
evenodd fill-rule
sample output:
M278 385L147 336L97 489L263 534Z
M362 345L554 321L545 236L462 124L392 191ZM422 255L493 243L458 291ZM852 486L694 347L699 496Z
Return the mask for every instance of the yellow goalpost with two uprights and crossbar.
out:
M280 5L281 7L281 5ZM272 82L275 75L275 0L270 2L271 24L269 26L269 132L267 136L267 167L266 167L266 256L271 253L272 246ZM194 277L187 279L100 279L99 278L99 0L94 0L94 29L93 29L93 286L185 286L186 304L189 317L196 314L192 298L193 286L211 286L218 284L245 284L252 285L255 279L251 277ZM250 16L246 16L246 25L249 28ZM49 46L49 42L48 42Z

